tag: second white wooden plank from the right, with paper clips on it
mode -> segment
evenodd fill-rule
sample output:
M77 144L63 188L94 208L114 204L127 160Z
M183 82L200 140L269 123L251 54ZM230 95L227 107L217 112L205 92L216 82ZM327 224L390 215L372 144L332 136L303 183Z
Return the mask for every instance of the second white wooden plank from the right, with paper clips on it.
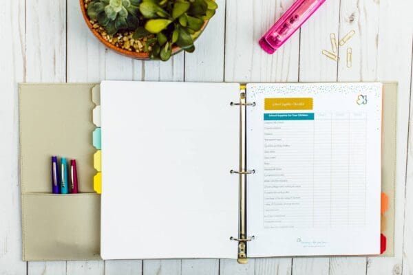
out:
M377 32L379 3L374 1L341 1L339 40L354 30L352 39L339 47L339 81L374 81L377 65ZM348 67L347 50L352 49L352 65ZM330 274L366 274L367 258L334 257Z

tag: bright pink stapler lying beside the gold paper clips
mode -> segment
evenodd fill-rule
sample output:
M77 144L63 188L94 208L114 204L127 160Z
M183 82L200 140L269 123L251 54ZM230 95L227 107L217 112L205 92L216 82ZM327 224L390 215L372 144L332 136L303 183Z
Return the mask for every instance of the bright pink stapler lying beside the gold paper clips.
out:
M273 54L326 0L297 0L260 39L262 49Z

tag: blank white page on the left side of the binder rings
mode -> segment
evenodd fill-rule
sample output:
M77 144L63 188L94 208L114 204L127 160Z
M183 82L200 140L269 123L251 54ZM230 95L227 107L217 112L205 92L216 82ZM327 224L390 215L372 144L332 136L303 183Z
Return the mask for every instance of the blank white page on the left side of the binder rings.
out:
M103 259L236 258L235 83L103 81Z

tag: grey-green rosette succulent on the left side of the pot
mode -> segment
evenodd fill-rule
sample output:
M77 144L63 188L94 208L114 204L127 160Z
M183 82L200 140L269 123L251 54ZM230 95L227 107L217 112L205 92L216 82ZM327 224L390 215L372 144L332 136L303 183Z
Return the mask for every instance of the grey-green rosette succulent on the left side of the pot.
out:
M141 0L94 0L87 6L87 15L98 21L107 34L118 30L136 30L139 25Z

